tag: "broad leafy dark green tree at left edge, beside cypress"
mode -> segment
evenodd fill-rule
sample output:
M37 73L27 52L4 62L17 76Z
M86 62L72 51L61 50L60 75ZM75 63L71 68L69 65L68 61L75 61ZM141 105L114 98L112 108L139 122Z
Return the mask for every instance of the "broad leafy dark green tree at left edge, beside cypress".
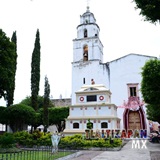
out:
M16 56L15 44L0 29L0 98L5 100L14 88Z

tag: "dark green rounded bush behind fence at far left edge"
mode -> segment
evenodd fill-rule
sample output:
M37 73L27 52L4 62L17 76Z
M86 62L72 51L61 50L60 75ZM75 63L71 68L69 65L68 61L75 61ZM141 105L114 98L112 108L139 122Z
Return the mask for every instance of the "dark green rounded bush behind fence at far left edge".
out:
M4 133L0 136L1 148L12 148L15 146L15 138L12 133Z

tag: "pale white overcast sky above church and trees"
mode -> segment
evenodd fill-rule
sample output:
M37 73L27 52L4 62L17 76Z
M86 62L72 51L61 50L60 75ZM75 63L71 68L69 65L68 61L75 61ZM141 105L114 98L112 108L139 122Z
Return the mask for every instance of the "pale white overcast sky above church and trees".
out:
M0 0L0 28L7 37L17 32L17 71L14 104L31 95L31 56L40 31L41 80L48 77L53 99L71 97L73 42L87 0ZM89 0L100 27L104 62L130 53L160 56L160 25L144 21L132 0ZM0 105L4 105L0 99Z

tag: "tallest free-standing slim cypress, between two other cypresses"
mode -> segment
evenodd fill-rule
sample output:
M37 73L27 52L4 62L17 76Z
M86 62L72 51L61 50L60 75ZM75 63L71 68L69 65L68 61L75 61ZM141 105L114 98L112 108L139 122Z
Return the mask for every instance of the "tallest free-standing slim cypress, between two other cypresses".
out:
M40 48L40 35L37 29L31 62L31 102L35 111L38 110L37 96L40 82Z

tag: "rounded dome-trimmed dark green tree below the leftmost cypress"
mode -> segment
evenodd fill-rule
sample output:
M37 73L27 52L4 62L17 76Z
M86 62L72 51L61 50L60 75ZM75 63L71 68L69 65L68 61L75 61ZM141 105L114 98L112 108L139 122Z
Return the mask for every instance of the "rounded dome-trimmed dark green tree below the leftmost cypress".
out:
M25 126L31 125L35 119L35 111L24 104L15 104L6 108L8 124L13 132L22 131Z

